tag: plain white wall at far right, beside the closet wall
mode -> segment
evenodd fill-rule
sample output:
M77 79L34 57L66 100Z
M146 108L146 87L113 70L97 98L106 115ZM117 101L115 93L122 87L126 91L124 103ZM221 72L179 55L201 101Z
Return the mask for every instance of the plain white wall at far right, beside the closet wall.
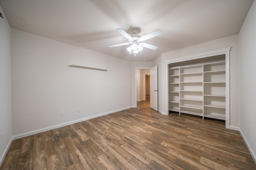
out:
M240 130L256 161L256 2L239 32ZM250 126L250 133L248 131Z

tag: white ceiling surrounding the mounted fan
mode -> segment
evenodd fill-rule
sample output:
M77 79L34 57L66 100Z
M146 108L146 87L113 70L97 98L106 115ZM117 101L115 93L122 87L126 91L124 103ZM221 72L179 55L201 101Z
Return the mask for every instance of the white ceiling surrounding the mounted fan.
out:
M129 61L154 61L162 53L239 33L253 0L0 0L10 26ZM1 18L0 18L1 19ZM129 34L156 29L134 57L126 48Z

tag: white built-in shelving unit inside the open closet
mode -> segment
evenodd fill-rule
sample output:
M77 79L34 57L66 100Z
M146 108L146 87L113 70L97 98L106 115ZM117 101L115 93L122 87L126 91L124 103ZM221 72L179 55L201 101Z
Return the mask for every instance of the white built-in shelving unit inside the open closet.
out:
M170 67L169 110L214 119L226 119L226 62Z

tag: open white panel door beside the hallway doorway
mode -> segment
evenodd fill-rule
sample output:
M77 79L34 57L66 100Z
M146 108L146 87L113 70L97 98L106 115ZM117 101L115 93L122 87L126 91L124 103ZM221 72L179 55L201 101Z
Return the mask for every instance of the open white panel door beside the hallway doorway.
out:
M150 68L150 107L158 111L157 66Z

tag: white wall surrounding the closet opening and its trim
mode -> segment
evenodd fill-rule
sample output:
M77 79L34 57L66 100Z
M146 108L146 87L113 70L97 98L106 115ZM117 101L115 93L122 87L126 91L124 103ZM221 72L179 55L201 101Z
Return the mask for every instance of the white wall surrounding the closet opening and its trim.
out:
M168 113L167 101L166 101L166 60L174 59L178 57L185 57L189 55L204 53L208 51L214 51L217 49L223 49L232 47L230 51L230 126L235 129L239 127L239 99L238 99L238 35L232 35L222 39L216 39L214 41L208 41L199 45L194 45L184 49L171 51L162 54L158 59L154 61L154 64L158 64L158 98L159 98L159 110L162 113Z

